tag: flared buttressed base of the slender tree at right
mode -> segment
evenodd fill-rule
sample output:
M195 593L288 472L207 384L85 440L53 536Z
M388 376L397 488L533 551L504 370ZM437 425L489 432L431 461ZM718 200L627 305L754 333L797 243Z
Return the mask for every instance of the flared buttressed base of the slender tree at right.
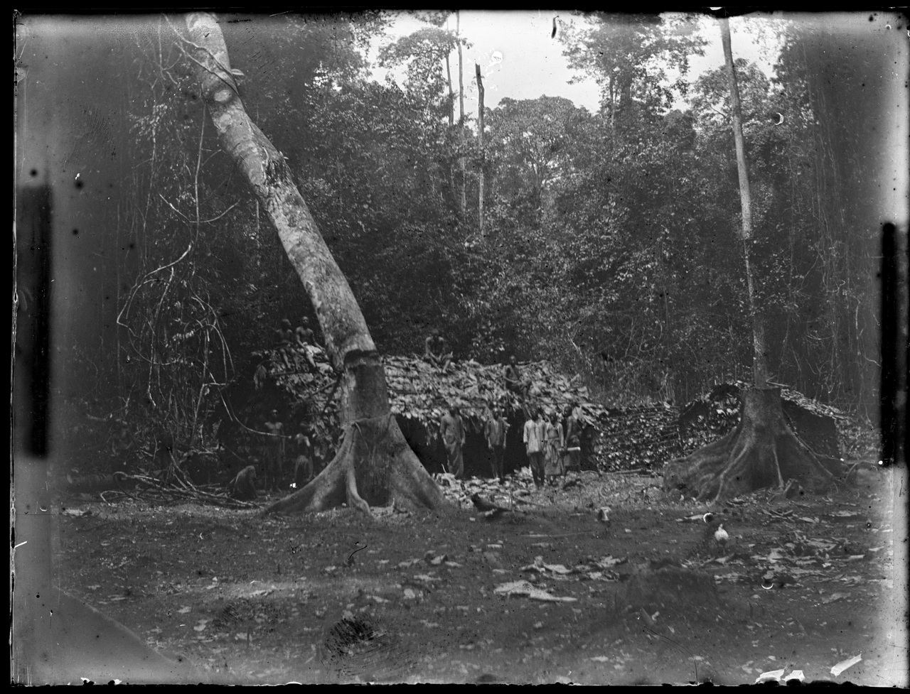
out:
M814 453L787 424L780 388L749 388L740 394L740 423L723 438L667 463L663 488L700 501L781 487L788 480L809 491L834 483Z

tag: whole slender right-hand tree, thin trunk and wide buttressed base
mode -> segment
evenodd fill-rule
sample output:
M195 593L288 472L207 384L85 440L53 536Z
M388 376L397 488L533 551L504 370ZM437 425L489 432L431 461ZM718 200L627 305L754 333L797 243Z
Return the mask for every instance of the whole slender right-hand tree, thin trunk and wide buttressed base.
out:
M663 471L664 488L678 488L699 500L734 497L755 489L780 486L790 480L803 488L825 488L834 476L787 424L779 388L767 386L768 369L764 344L764 321L756 306L749 245L752 243L752 205L749 174L743 141L743 116L739 88L733 67L729 20L722 18L721 39L730 84L733 112L733 141L739 169L740 197L743 206L743 242L749 310L753 318L753 378L755 387L744 390L740 399L740 424L725 437L699 448L685 458L667 463Z

